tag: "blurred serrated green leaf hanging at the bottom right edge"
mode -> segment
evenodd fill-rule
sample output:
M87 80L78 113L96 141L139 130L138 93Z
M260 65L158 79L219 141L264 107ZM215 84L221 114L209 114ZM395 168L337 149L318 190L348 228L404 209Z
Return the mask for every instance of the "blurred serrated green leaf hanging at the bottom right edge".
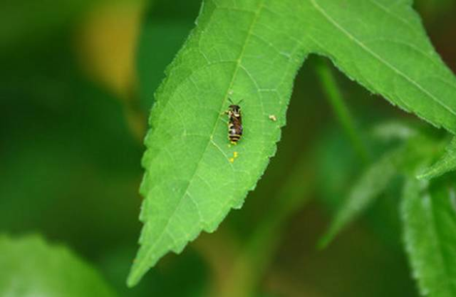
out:
M455 187L409 179L403 193L405 247L423 296L456 296Z

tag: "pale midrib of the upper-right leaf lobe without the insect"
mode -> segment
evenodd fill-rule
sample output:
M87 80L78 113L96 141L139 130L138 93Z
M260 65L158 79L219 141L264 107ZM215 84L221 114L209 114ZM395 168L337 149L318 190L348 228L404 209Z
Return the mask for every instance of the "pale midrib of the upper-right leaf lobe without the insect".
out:
M445 110L447 110L448 112L450 112L452 115L456 115L456 111L453 111L450 107L448 107L445 103L442 103L442 101L438 100L434 95L432 95L432 93L430 93L429 91L427 91L425 88L423 88L423 86L421 86L419 83L417 83L415 80L413 80L412 78L409 78L407 75L405 75L405 73L403 73L402 71L400 71L398 68L395 68L393 65L391 65L390 63L388 63L387 61L385 61L381 56L379 56L377 53L375 53L374 51L371 50L371 48L369 48L368 46L366 46L366 44L364 44L362 41L358 40L358 38L356 38L355 36L353 36L353 34L351 34L350 32L348 32L345 28L343 28L340 24L338 24L338 22L336 22L328 13L327 11L325 11L321 6L319 6L317 3L316 3L316 0L310 0L311 1L311 4L314 6L314 8L330 23L332 24L334 27L336 27L338 29L338 31L341 31L343 34L345 34L348 38L350 38L352 41L354 41L358 46L360 46L364 51L366 51L366 53L368 53L369 55L373 56L375 59L377 59L378 61L380 61L380 63L383 63L385 66L387 66L388 68L390 68L390 70L394 71L395 73L397 73L398 75L402 76L403 78L405 78L405 80L408 80L409 83L411 83L415 88L417 88L418 90L420 90L421 93L424 93L427 97L429 97L430 99L432 99L433 101L435 101L435 103L437 103L438 105L440 105L442 108L444 108ZM448 127L450 129L450 127ZM452 130L452 128L450 129Z

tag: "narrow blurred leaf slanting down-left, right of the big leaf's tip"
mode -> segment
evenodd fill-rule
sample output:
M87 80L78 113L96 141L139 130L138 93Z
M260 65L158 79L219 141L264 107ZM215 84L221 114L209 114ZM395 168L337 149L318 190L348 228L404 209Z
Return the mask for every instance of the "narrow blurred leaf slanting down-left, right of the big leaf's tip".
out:
M338 210L335 219L318 247L326 247L347 224L353 222L375 199L388 187L390 181L398 174L398 164L407 153L405 147L385 154L380 160L368 167L348 194L348 199Z

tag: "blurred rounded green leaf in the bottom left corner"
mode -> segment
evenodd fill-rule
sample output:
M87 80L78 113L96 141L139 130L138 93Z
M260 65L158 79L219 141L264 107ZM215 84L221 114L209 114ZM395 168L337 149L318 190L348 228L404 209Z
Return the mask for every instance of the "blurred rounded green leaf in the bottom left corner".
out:
M0 236L0 296L115 296L97 271L38 236Z

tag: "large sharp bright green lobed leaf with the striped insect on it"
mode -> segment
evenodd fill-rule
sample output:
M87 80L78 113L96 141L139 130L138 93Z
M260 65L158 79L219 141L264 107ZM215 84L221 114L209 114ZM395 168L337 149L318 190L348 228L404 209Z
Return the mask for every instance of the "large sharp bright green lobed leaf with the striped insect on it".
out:
M182 251L242 207L276 151L294 77L309 53L456 132L455 78L409 0L204 1L150 116L140 189L145 226L130 286L167 252ZM229 98L243 100L237 146L229 145L222 115Z

